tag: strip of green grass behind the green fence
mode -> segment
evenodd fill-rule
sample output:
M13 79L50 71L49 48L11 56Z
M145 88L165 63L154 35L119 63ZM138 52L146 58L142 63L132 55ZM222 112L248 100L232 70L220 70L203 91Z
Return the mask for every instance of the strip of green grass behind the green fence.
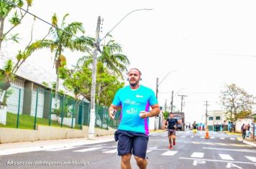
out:
M39 118L37 117L36 125L46 125L49 126L49 120L45 118ZM35 117L30 115L19 115L19 128L21 129L34 129L35 125ZM61 127L60 123L51 120L50 126L52 127ZM0 124L0 127L9 127L9 128L16 128L17 127L17 115L8 112L6 117L6 125ZM69 126L63 125L65 128L71 128ZM74 129L81 129L80 125L76 125L76 127L73 127Z

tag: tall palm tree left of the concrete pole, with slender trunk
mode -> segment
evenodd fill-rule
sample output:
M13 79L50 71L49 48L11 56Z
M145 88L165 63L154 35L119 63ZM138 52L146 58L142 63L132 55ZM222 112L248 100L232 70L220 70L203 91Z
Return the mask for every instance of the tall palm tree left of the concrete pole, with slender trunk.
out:
M50 28L50 34L52 39L45 39L40 42L41 47L50 48L51 52L55 53L55 69L56 69L56 87L55 87L55 103L58 100L59 90L59 69L65 67L66 59L62 54L64 49L70 49L71 51L85 52L90 49L88 46L93 45L93 38L90 37L75 37L78 33L84 34L83 24L81 22L71 22L70 24L65 23L65 19L69 14L65 14L60 24L58 24L58 17L56 14L52 16L52 27ZM57 106L57 105L56 105Z

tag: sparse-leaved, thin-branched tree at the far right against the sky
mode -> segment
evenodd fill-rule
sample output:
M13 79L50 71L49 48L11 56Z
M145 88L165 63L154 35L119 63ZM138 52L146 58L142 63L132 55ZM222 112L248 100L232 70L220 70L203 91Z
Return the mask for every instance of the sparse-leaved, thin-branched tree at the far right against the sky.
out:
M225 85L225 89L221 90L220 99L221 105L226 110L227 120L232 122L252 114L252 106L255 105L255 97L236 84Z

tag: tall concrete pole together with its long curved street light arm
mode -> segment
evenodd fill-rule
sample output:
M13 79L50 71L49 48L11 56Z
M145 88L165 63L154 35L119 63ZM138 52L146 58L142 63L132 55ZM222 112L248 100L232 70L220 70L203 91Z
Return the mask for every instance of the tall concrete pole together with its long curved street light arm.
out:
M129 14L132 14L135 11L142 11L142 10L152 10L152 9L136 9L131 12L129 12L127 15L125 15L105 36L103 39L106 38L112 32L117 25L121 23ZM93 139L94 138L94 127L95 127L95 93L96 93L96 69L97 69L97 56L98 52L100 51L101 47L101 41L103 39L99 38L99 32L101 25L101 16L98 17L97 20L97 27L96 27L96 38L94 42L94 50L93 50L93 65L92 65L92 77L91 77L91 109L90 109L90 124L88 128L88 138Z

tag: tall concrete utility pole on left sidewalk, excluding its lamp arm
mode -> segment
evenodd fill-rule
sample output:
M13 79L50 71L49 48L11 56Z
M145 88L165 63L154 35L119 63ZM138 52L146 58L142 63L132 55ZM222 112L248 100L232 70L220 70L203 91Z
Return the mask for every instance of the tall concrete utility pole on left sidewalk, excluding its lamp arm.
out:
M97 55L100 50L99 32L101 30L101 16L98 16L97 27L96 27L96 37L94 42L93 50L93 70L92 70L92 83L91 83L91 111L90 111L90 124L88 131L88 138L94 138L94 125L95 125L95 92L96 92L96 67L97 67Z

